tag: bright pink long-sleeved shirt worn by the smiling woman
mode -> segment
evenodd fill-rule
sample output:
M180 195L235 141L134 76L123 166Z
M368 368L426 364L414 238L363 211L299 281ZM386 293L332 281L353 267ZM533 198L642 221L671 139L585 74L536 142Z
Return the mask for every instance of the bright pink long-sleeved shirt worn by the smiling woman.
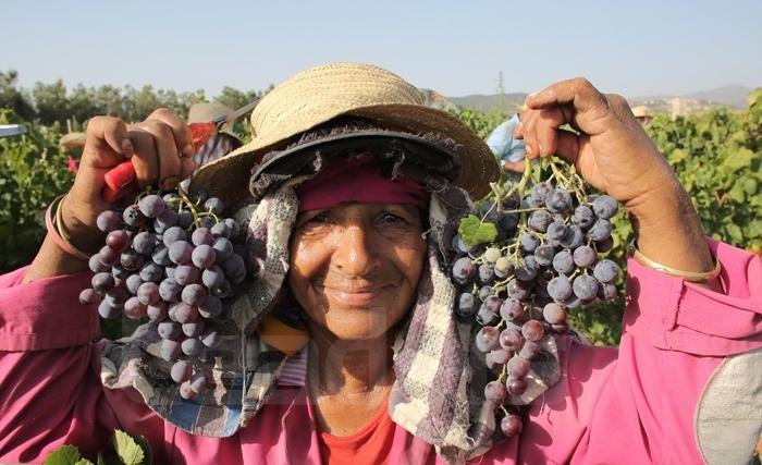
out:
M530 409L520 438L479 464L702 463L697 403L724 357L762 346L762 264L710 241L723 265L717 294L628 262L619 348L558 340L563 375ZM88 276L19 284L0 277L0 462L40 462L64 443L95 455L114 428L144 435L157 464L318 464L315 412L299 382L233 437L188 435L134 390L99 379L97 314L77 303ZM433 449L396 428L390 463L439 464ZM368 457L372 463L373 457ZM358 464L357 464L358 465Z

